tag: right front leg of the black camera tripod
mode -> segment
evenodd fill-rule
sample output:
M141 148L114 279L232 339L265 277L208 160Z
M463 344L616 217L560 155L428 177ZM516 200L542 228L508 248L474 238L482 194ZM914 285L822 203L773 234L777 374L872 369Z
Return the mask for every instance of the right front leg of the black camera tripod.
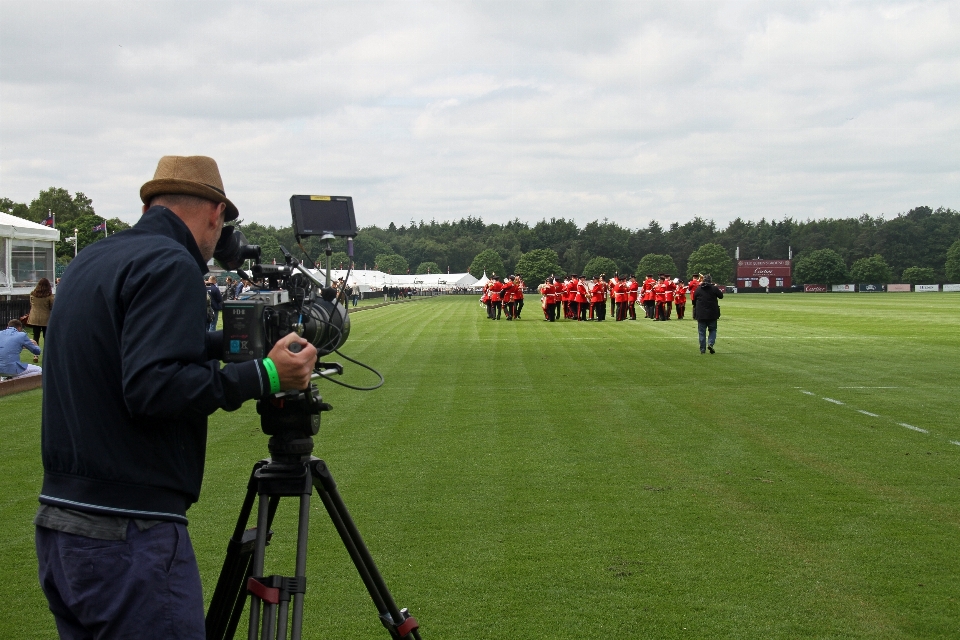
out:
M360 574L360 579L367 587L370 599L373 600L374 606L380 613L380 621L383 626L387 628L391 637L395 640L410 637L420 640L420 633L417 631L419 625L416 618L411 617L406 609L399 609L394 602L390 590L383 581L383 576L380 575L380 571L373 561L373 556L370 555L370 550L363 543L360 531L353 522L353 518L350 517L347 505L340 497L337 483L330 474L327 464L323 460L314 459L311 464L311 472L313 474L313 486L317 489L320 500L340 535L347 553L350 554L350 558Z

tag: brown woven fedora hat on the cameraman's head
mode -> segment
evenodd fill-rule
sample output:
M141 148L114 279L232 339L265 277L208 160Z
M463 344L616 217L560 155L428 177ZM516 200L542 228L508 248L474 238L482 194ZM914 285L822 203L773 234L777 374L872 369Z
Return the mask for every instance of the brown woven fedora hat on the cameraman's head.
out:
M240 212L227 198L217 161L207 156L163 156L153 180L140 187L140 200L149 204L160 194L197 196L227 205L226 220L236 220Z

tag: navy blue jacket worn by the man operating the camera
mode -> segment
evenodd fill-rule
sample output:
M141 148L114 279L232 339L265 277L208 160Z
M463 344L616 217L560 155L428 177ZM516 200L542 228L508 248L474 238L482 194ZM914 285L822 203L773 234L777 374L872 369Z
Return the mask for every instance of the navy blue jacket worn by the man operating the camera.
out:
M165 207L70 263L47 328L41 503L186 522L207 416L269 389L259 361L208 353L206 271Z

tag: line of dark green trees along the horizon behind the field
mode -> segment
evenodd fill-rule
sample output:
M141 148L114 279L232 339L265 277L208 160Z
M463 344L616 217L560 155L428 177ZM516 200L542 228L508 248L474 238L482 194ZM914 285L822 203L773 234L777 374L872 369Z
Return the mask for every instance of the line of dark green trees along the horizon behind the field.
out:
M72 237L73 229L78 229L79 250L103 237L102 232L98 235L93 231L103 219L96 215L92 201L81 192L71 196L66 189L51 187L41 191L29 204L0 198L0 211L34 222L41 222L48 211L52 211L57 214L57 227L65 237ZM129 227L117 218L106 223L109 233ZM302 258L290 226L277 228L242 220L238 224L251 244L261 246L265 261L282 261L281 246ZM800 275L829 275L830 281L843 282L854 275L864 275L862 269L851 272L858 261L865 268L867 264L876 266L878 258L889 270L889 277L876 279L877 275L887 275L887 272L871 271L866 273L874 276L869 279L871 282L901 280L905 272L915 278L916 270L931 282L957 282L960 273L951 270L953 263L948 259L948 252L952 246L960 252L960 245L955 245L958 240L960 213L925 206L889 220L883 215L868 214L805 221L792 218L747 221L738 217L724 228L700 217L667 227L653 221L639 229L623 227L606 218L588 222L581 228L565 218L544 219L531 225L519 219L506 224L487 224L481 218L466 217L455 222L411 220L400 226L391 222L387 227L361 227L354 241L353 262L358 269L377 268L395 274L469 271L479 277L484 271L488 275L493 271L524 273L525 263L538 264L540 268L535 271L539 273L546 268L541 264L546 261L554 269L550 273L555 275L590 273L597 269L608 275L611 272L642 274L652 268L656 273L663 271L687 278L695 273L689 268L694 252L705 245L716 245L729 259L738 248L743 259L783 260L792 250L795 269L799 270L794 279L798 282L804 281ZM317 238L306 238L302 242L303 251L313 259L319 260L325 248L325 243ZM338 239L331 248L333 266L346 266L349 258L345 242ZM826 262L825 254L817 253L824 250L834 254L827 255ZM713 259L719 257L714 255L715 249L710 251ZM64 262L73 257L73 252L73 245L66 239L57 247L58 259ZM807 268L811 261L812 266L817 267L813 271ZM532 273L528 270L528 274ZM728 274L726 279L729 281L732 275Z

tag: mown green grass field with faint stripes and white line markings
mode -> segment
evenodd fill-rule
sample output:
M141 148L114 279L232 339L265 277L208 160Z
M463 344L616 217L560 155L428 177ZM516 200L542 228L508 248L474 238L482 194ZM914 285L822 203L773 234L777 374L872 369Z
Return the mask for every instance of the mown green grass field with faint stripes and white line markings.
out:
M728 295L696 323L369 309L316 454L424 638L960 637L960 295ZM347 364L344 381L373 382ZM0 637L51 638L31 517L40 392L0 398ZM252 464L210 421L190 530L207 595ZM386 638L319 500L305 637ZM268 572L291 573L293 502Z

